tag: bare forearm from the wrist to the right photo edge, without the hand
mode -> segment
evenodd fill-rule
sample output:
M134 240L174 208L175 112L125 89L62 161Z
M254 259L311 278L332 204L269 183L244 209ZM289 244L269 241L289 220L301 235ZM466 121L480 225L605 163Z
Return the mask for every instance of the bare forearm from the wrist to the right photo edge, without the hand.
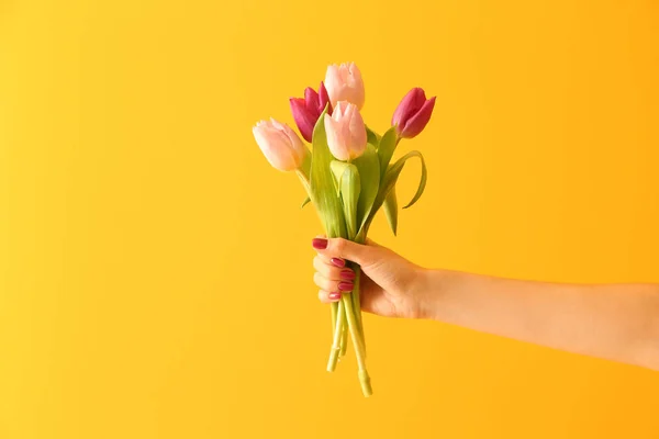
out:
M659 370L659 285L574 285L424 273L423 316Z

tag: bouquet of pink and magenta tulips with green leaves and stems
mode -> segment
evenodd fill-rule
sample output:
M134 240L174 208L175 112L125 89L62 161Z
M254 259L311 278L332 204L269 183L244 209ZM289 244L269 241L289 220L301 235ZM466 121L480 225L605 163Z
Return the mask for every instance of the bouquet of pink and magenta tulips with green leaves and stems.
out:
M327 67L319 91L304 90L304 98L291 98L293 119L311 150L288 125L271 119L253 128L261 151L275 168L295 171L308 198L315 206L327 237L365 243L369 226L380 207L393 234L398 227L395 183L410 158L421 159L421 182L410 207L423 194L426 167L418 151L392 161L403 138L418 135L431 120L435 98L426 100L420 88L403 98L393 113L391 127L382 135L365 125L359 111L365 90L355 64ZM348 336L355 348L358 376L365 396L372 394L366 369L366 342L359 304L359 266L351 263L356 279L351 294L332 304L333 342L327 370L334 371L339 356L346 353Z

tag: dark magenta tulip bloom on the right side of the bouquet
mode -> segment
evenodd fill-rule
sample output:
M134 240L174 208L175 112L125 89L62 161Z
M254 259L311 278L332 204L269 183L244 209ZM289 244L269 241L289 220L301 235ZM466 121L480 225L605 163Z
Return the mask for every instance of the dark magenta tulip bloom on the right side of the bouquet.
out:
M391 124L400 138L416 137L427 125L435 108L435 97L426 100L423 89L414 88L405 94L393 113Z

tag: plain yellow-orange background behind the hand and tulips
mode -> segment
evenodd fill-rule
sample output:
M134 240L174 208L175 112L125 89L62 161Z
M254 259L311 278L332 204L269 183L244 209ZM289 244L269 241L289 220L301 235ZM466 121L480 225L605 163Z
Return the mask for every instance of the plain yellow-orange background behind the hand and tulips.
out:
M659 7L646 1L0 0L0 438L657 438L657 373L366 317L324 371L294 176L252 137L355 60L413 86L427 266L659 281ZM417 165L402 176L401 198Z

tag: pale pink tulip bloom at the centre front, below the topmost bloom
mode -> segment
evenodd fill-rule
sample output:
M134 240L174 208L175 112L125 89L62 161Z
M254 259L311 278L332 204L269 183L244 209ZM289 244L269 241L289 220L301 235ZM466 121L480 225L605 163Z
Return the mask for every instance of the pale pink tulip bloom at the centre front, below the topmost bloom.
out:
M339 101L332 115L325 114L327 146L339 160L351 160L366 149L366 126L357 105Z

